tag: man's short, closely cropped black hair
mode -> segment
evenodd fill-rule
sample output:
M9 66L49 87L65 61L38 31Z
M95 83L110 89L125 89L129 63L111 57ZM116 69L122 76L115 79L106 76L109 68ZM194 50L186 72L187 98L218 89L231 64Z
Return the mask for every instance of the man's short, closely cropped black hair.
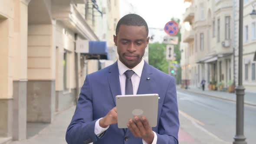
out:
M127 14L125 16L123 16L117 23L116 25L116 29L115 29L115 34L117 36L118 31L119 31L119 27L121 25L126 25L126 26L145 26L146 28L146 32L147 32L147 36L148 36L148 24L147 22L138 14Z

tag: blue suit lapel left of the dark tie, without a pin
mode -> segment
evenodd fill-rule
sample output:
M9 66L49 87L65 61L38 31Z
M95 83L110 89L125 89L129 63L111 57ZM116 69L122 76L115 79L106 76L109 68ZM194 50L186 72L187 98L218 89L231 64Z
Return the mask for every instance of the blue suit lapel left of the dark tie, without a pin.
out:
M111 89L113 101L115 102L115 96L121 95L117 62L115 62L108 71L108 83ZM115 103L115 106L116 106L116 103Z

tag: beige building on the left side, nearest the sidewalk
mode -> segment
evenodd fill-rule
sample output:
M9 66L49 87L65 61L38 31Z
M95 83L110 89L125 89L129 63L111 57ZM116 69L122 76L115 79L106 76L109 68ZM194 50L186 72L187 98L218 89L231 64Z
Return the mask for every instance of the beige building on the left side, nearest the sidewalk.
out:
M50 123L75 104L85 75L98 70L98 60L86 60L94 55L89 41L113 45L103 16L114 27L118 0L108 0L112 13L103 2L0 1L0 144L26 139L27 124Z

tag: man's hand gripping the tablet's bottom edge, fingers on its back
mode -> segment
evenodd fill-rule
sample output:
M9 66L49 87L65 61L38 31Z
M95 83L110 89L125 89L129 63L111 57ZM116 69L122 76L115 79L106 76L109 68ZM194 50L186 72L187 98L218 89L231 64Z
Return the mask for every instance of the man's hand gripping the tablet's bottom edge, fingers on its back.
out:
M134 117L135 121L129 119L127 124L129 130L135 137L141 137L148 144L151 144L154 140L154 132L148 123L148 119L144 116L141 119L138 116Z

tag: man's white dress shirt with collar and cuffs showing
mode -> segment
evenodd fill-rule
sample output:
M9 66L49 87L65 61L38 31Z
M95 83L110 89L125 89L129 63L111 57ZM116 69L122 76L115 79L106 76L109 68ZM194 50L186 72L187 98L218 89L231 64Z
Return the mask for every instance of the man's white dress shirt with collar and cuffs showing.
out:
M140 80L141 80L141 74L142 74L142 70L143 70L143 66L144 66L144 59L142 59L141 62L132 69L129 69L119 59L117 61L117 64L118 64L118 71L119 71L119 81L120 81L121 95L125 95L125 81L126 81L125 72L127 70L133 70L135 72L131 76L131 82L132 82L133 94L134 95L137 94L139 84L140 84ZM100 119L102 119L102 118L100 118ZM102 134L104 131L106 131L109 128L109 126L107 128L102 128L99 125L99 120L100 119L98 119L98 121L96 121L96 123L95 123L95 131L94 132L97 136L99 136L100 134ZM158 136L154 132L154 140L153 140L152 144L156 144L157 139L158 139ZM148 144L144 140L142 140L142 142L143 142L143 144Z

